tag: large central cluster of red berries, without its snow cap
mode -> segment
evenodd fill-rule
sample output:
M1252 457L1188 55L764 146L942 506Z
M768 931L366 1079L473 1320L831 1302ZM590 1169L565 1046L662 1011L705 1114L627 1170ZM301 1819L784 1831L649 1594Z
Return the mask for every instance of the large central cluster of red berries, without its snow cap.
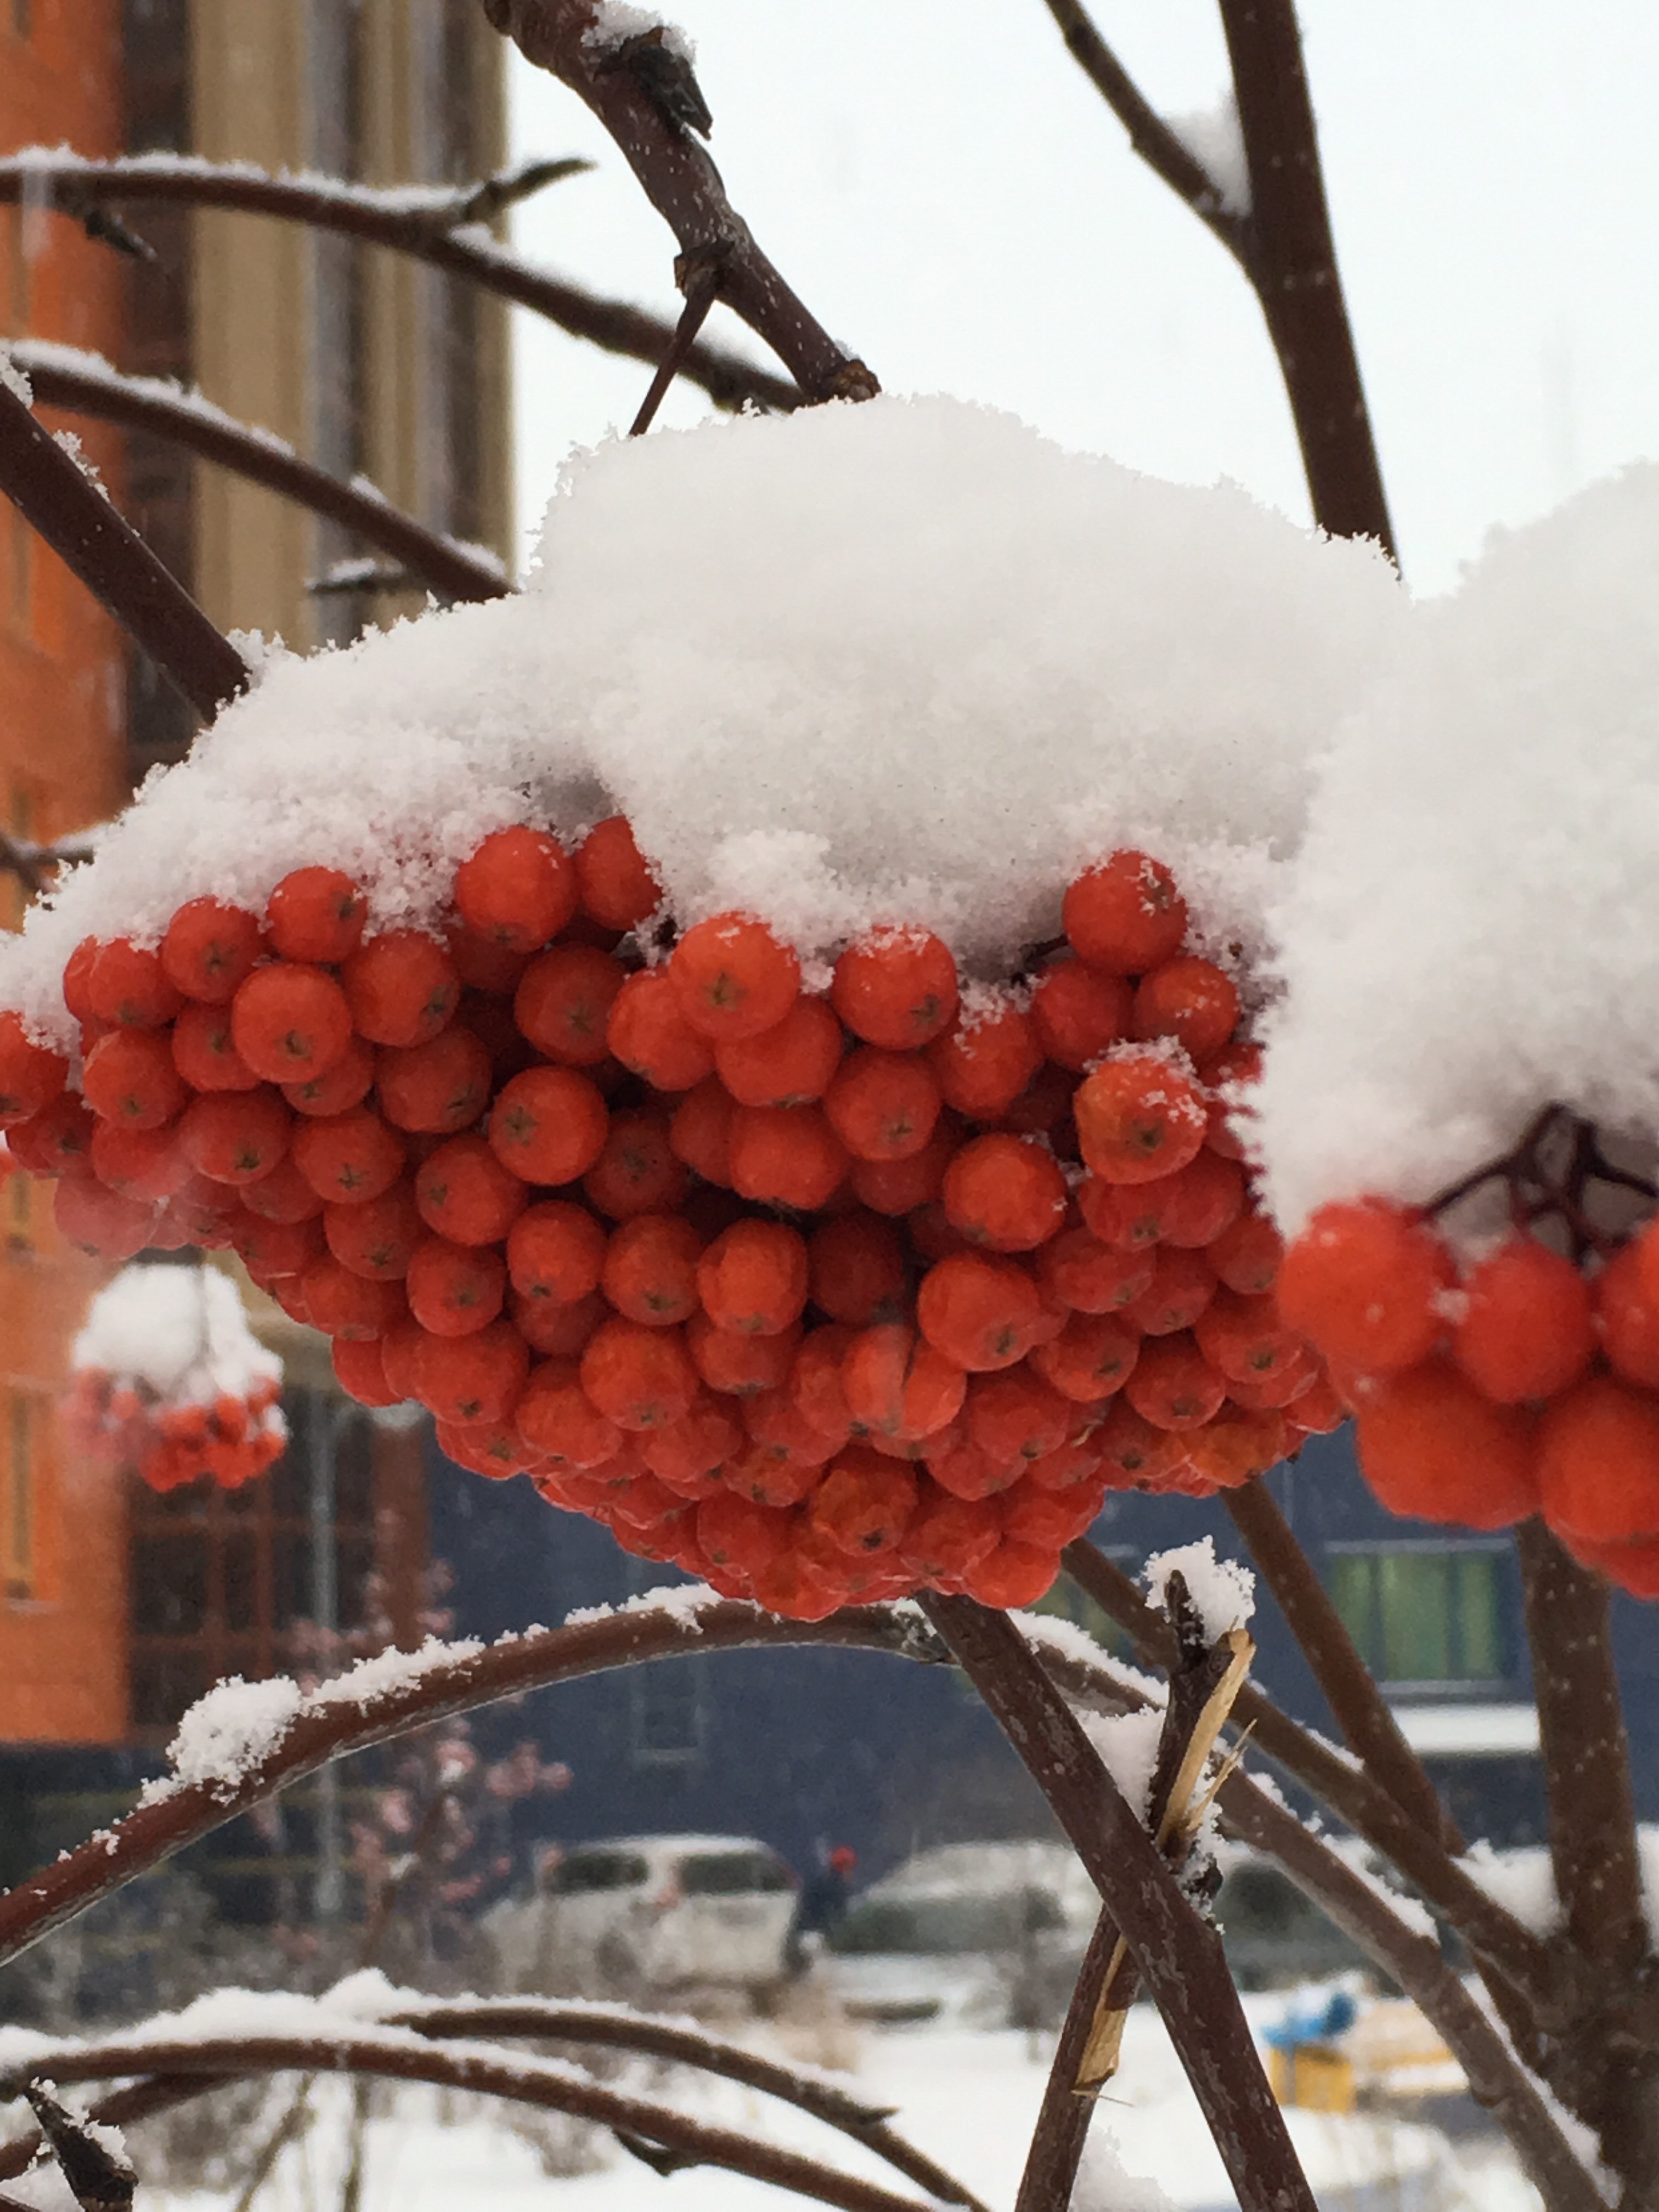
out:
M1113 854L967 995L918 929L823 993L741 914L659 958L659 905L622 816L484 838L445 940L327 867L192 898L69 962L80 1091L0 1015L0 1124L77 1241L234 1245L363 1402L783 1615L1029 1604L1106 1489L1336 1425L1168 869Z

